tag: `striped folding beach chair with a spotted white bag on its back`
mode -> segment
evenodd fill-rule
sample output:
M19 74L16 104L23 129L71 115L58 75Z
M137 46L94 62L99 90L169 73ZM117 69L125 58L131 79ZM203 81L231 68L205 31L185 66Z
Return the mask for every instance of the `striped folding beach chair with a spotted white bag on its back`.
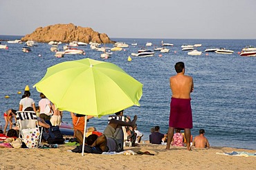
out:
M42 127L40 128L38 125L35 111L17 111L16 118L19 127L19 138L28 148L38 147L41 142Z

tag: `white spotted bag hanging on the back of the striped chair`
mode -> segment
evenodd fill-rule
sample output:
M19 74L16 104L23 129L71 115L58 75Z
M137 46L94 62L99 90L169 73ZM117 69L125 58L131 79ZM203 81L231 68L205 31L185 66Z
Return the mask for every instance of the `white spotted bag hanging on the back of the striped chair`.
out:
M39 128L22 129L22 140L28 148L35 148L38 146L38 140L40 137Z

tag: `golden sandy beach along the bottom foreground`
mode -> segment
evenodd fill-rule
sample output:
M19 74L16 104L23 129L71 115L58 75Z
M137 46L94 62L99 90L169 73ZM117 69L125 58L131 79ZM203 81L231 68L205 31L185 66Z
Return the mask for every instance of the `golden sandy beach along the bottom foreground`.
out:
M256 157L226 156L217 153L256 150L212 147L188 151L185 147L140 144L125 147L125 151L149 151L149 155L102 155L73 153L75 146L60 145L56 149L9 149L1 148L0 169L255 169Z

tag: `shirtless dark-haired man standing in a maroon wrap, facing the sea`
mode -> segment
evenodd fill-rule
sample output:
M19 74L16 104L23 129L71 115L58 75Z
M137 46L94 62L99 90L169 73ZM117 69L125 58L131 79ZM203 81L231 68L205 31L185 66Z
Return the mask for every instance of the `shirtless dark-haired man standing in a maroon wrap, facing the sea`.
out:
M184 129L185 139L187 140L188 150L190 148L190 136L192 125L192 110L190 105L190 93L194 90L193 78L185 76L185 65L178 62L175 65L177 74L170 77L170 88L172 89L172 100L170 103L170 119L167 134L166 149L170 149L171 141L174 136L174 129Z

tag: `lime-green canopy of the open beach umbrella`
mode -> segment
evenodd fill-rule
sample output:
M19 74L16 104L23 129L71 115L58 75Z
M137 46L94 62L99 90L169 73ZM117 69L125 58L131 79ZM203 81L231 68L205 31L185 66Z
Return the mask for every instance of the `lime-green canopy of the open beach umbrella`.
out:
M113 63L81 59L48 67L33 87L60 110L103 116L140 105L143 84Z

